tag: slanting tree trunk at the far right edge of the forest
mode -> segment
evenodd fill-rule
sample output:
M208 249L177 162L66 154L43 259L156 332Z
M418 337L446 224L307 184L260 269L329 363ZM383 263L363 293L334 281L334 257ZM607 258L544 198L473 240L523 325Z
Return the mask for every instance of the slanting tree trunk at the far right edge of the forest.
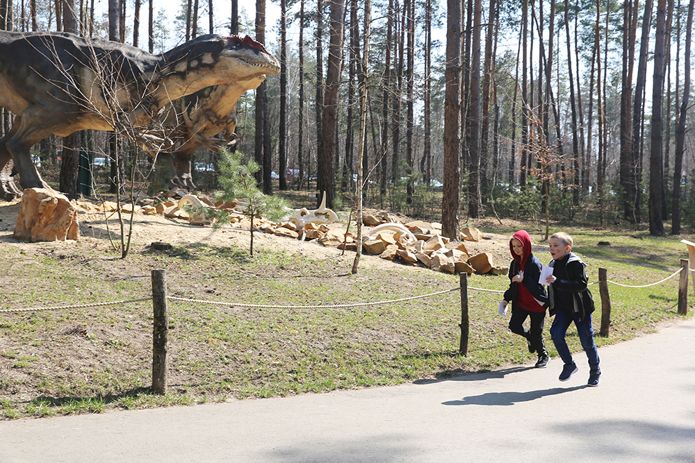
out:
M688 19L685 26L685 81L683 81L683 98L680 103L680 116L676 126L676 153L673 160L673 207L671 221L673 224L671 233L680 233L680 169L682 169L683 153L685 152L685 118L687 117L688 103L690 99L690 53L692 50L693 9L695 0L688 4ZM680 11L679 11L680 15ZM693 264L690 264L691 266Z

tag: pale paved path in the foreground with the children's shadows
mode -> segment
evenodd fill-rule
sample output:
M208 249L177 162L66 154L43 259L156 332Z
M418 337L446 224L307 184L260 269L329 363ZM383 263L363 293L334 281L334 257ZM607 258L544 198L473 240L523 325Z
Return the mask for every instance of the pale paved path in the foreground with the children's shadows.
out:
M516 367L450 380L0 422L0 462L695 462L695 319L599 349L586 387Z

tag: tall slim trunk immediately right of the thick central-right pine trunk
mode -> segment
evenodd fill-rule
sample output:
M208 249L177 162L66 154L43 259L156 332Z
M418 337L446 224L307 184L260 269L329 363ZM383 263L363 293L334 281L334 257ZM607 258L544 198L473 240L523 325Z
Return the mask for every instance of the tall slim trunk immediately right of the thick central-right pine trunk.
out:
M480 28L482 24L482 0L473 6L473 36L471 37L471 144L468 146L468 216L480 217Z

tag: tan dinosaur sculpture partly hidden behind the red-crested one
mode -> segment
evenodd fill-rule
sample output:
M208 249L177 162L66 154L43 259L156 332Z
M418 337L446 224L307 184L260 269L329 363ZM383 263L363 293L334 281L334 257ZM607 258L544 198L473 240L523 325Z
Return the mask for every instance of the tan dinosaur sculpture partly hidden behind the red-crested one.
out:
M206 87L182 99L174 137L181 140L181 146L173 153L158 155L159 179L173 183L188 190L195 190L190 173L191 158L200 146L215 150L222 142L216 135L227 129L224 141L231 145L236 141L236 102L248 90L254 90L263 83L265 76L260 75L245 81L232 82L213 87Z

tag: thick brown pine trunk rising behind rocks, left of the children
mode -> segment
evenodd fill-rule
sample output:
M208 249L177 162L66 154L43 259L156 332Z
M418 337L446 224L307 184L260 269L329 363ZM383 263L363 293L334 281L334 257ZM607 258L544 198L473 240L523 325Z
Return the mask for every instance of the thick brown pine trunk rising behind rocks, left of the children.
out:
M463 0L447 0L446 87L444 95L444 189L441 204L442 235L460 239L459 191L461 183L459 134L461 133L460 53Z

